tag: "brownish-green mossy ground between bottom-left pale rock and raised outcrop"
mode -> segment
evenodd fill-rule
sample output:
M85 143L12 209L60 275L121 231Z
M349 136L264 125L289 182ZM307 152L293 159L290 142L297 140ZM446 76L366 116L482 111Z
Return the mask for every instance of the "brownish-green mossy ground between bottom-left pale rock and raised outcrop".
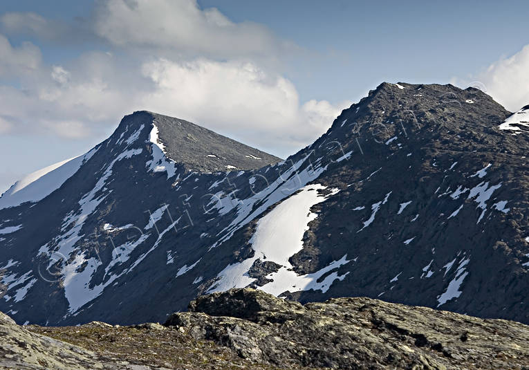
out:
M26 329L62 340L101 356L102 360L169 369L287 370L254 364L239 358L231 349L212 341L196 341L176 328L157 324L140 326L26 326ZM288 367L302 369L300 367Z

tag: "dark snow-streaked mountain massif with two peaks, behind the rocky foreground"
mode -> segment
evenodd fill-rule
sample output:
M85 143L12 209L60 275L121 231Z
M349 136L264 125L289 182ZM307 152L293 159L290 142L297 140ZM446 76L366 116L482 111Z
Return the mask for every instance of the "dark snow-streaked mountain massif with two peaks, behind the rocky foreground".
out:
M252 286L528 323L528 113L474 88L383 83L277 162L136 112L73 174L0 198L0 311L159 322Z

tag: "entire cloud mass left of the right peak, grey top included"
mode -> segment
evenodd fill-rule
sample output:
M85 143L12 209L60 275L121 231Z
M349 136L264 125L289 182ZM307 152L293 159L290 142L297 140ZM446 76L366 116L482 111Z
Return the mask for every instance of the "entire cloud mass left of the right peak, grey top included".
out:
M234 23L194 0L106 0L90 19L0 17L6 35L99 45L46 64L34 44L0 35L0 131L102 138L122 115L147 109L189 120L286 156L312 142L349 102L300 102L281 75L295 48L270 30ZM66 46L63 46L66 47ZM14 80L14 81L13 81Z

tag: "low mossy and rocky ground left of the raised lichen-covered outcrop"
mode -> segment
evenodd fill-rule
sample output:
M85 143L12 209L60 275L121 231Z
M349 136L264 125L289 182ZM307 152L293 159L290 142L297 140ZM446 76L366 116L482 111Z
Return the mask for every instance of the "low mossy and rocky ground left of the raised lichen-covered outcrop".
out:
M0 369L287 370L240 358L226 346L194 340L185 329L147 323L18 326L0 313ZM293 367L290 369L303 369Z

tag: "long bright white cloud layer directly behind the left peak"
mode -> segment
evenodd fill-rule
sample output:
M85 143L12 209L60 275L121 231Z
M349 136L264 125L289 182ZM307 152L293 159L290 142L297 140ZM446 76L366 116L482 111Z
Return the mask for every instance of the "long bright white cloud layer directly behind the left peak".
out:
M129 64L87 53L0 86L0 129L84 138L141 109L201 124L248 145L292 154L328 129L346 103L302 104L294 84L252 62L157 59Z

